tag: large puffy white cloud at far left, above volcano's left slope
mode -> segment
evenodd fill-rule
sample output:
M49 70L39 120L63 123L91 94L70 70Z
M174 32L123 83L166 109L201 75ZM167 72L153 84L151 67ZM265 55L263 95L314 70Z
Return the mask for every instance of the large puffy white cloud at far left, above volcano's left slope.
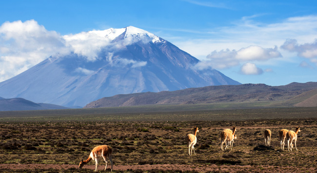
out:
M67 52L65 40L35 20L0 26L0 81L14 77L56 53Z

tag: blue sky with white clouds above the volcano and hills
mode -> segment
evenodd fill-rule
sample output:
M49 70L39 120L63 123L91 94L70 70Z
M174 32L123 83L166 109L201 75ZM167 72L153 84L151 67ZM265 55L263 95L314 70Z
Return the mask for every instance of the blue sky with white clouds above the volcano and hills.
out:
M0 81L48 58L62 36L130 25L241 83L317 82L316 0L2 0Z

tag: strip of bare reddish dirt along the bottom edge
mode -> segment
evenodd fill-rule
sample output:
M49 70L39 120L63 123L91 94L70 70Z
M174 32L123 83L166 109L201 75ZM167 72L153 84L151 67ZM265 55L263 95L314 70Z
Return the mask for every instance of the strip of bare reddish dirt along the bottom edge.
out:
M109 167L107 172L109 172ZM11 171L18 170L35 170L35 169L56 169L56 170L67 170L70 168L78 169L78 165L56 165L56 164L0 164L0 170L10 169ZM94 165L86 165L83 169L95 170ZM104 169L104 165L99 165L98 170L101 171ZM270 173L295 173L295 172L306 172L306 173L316 173L317 168L297 168L293 166L251 166L251 165L180 165L180 164L156 164L156 165L114 165L113 172L116 171L132 171L132 170L142 170L147 172L149 170L178 170L178 171L187 171L187 172L270 172Z

